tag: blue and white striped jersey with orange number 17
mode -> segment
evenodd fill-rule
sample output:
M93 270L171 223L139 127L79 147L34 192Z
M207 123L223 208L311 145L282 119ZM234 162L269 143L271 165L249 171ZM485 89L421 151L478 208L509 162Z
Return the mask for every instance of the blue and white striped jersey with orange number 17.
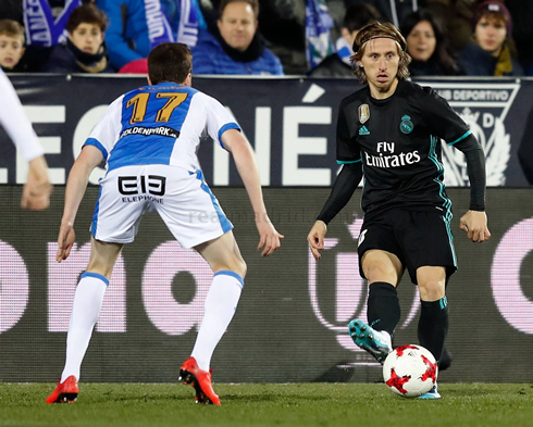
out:
M200 139L210 136L222 147L222 134L240 130L214 98L175 83L144 86L109 105L85 146L95 146L108 172L129 165L165 164L200 168Z

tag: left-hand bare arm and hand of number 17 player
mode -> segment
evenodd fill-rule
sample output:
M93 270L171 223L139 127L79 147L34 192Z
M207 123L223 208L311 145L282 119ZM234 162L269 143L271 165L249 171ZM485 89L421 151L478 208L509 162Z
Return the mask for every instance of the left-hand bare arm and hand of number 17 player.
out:
M90 173L102 160L103 154L98 148L95 146L85 146L69 174L65 189L65 205L58 236L59 248L55 254L55 261L59 263L66 260L71 253L72 246L76 239L74 222L79 203L82 203L82 199L84 198Z

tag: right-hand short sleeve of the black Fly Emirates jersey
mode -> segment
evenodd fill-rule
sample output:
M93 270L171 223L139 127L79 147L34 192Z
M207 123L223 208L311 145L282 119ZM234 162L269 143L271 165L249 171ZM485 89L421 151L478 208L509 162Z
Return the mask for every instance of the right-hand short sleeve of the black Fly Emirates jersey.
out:
M464 121L457 114L448 102L433 89L425 98L423 113L433 135L444 139L451 146L467 138L471 131Z

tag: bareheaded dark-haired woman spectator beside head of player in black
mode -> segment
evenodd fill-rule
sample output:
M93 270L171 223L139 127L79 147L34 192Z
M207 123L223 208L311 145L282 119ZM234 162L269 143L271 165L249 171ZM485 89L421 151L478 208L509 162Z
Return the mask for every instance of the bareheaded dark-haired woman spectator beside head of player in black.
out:
M454 76L459 66L453 56L444 26L429 10L419 10L408 15L400 27L407 40L407 53L411 76Z

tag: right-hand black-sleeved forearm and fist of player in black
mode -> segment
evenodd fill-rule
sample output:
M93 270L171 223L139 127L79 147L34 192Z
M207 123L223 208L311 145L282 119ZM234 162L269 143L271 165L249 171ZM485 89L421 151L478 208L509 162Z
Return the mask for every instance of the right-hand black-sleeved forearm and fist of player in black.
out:
M485 154L472 134L454 147L464 154L470 179L470 210L461 217L459 226L468 233L470 240L481 243L491 237L485 214Z

